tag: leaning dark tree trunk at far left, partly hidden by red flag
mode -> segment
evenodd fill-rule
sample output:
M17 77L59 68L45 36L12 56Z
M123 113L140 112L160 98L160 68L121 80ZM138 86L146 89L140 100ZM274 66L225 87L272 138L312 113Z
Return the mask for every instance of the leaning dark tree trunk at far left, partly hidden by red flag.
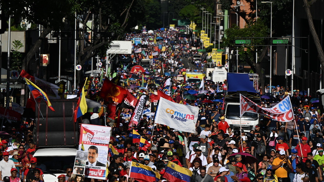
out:
M52 28L47 27L46 29L44 29L41 33L41 36L38 38L38 40L35 42L34 46L28 51L26 57L24 58L23 62L22 62L22 69L23 70L27 70L29 67L29 61L30 59L32 59L32 57L38 52L39 48L41 47L43 40L45 39L45 37L51 33ZM21 89L25 89L25 95L21 95L20 96L20 105L21 106L25 106L26 104L26 100L28 98L28 90L27 90L27 85L22 85Z

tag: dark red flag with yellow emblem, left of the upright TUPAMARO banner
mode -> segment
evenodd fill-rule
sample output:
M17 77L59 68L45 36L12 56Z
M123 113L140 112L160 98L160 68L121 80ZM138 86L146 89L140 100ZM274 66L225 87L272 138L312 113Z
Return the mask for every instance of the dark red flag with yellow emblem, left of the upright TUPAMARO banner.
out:
M105 101L108 101L108 98L111 97L114 102L121 103L127 96L127 90L115 85L109 79L105 79L103 81L99 96Z

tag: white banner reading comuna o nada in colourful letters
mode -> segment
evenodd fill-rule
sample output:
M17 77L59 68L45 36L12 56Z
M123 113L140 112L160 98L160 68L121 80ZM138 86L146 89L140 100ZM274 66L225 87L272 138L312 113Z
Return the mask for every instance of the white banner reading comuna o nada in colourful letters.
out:
M194 133L199 108L168 101L160 97L157 105L155 123L165 124L171 128Z

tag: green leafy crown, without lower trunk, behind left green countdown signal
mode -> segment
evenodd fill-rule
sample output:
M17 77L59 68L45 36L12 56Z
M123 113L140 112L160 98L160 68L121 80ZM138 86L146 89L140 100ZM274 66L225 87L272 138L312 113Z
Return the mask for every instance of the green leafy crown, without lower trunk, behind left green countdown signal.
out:
M256 49L258 49L258 53L260 53L262 47L236 47L235 39L236 37L267 37L268 32L268 27L264 24L264 22L261 19L258 19L257 23L247 25L245 28L241 29L235 25L234 27L225 30L226 38L223 38L223 44L229 48L238 48L241 61L254 60ZM266 41L264 38L253 38L251 39L251 44L265 45Z

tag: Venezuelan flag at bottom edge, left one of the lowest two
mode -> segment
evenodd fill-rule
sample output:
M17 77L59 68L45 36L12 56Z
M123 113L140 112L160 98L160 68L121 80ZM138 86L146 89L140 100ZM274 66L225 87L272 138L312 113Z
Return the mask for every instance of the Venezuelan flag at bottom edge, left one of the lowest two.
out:
M129 177L141 179L140 181L144 180L147 182L152 182L159 181L161 175L155 172L150 166L145 166L143 164L132 161Z

